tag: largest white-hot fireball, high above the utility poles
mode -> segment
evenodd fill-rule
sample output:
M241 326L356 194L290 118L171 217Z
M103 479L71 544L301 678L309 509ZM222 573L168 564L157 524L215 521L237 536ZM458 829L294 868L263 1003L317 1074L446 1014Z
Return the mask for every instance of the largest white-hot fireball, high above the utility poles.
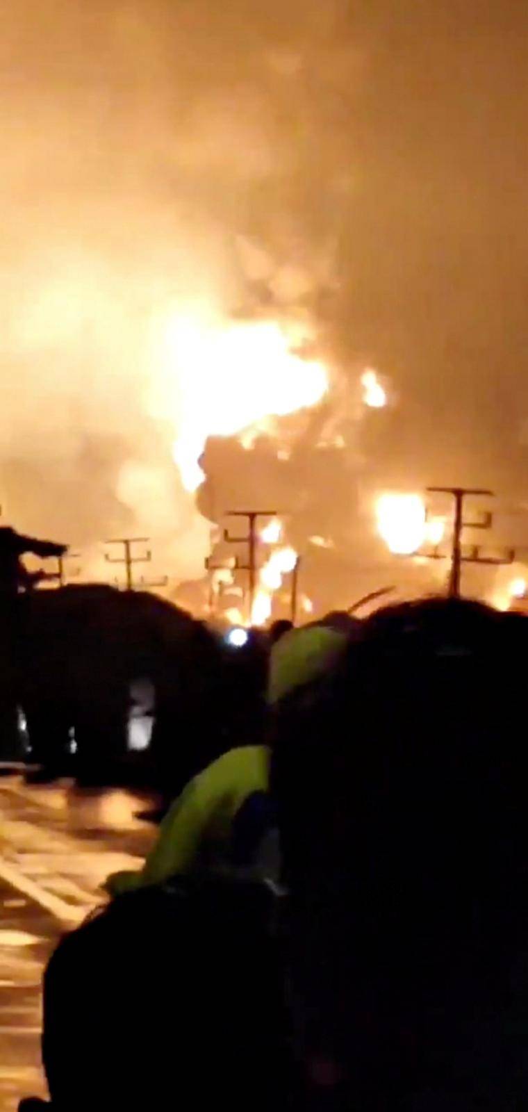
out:
M329 386L323 364L299 355L278 321L226 322L197 311L171 318L166 373L179 428L173 456L189 492L203 480L199 459L208 436L232 436L269 415L315 406Z

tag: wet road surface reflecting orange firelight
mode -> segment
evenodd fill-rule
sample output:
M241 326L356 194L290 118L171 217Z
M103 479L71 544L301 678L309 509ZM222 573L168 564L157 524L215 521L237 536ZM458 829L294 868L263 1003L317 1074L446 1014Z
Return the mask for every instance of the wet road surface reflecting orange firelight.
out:
M156 837L136 817L145 806L145 797L121 790L0 780L0 1112L12 1112L21 1096L46 1095L43 966L60 935L104 898L108 874L140 867Z

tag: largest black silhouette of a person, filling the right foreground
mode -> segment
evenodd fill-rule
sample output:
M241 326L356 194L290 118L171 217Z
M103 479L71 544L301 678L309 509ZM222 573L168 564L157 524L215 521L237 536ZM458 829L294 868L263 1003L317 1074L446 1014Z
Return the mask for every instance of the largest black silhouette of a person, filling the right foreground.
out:
M527 649L518 615L388 607L279 707L298 1026L355 1100L500 1073L504 1040L468 1031L502 1015L526 937Z

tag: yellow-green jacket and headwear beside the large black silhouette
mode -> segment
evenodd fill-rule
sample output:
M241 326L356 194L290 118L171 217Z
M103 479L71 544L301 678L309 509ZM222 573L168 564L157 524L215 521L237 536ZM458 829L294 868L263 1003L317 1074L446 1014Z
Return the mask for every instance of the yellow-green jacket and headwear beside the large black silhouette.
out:
M347 639L342 631L323 625L285 634L270 656L270 704L325 672ZM237 816L247 801L268 793L269 765L267 745L233 748L213 761L169 808L143 868L112 874L107 892L118 896L196 868L221 866L230 857Z

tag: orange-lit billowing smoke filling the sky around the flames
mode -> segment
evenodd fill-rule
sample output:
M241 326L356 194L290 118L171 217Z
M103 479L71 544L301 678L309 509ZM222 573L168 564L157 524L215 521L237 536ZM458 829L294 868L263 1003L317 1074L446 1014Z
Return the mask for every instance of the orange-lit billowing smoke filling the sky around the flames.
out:
M158 537L161 564L170 538L163 569L200 573L208 528L172 460L186 407L160 405L182 305L292 316L338 371L338 425L296 429L278 508L353 548L360 589L379 489L524 494L526 6L1 7L9 519L83 546ZM342 384L366 366L392 408L359 426Z

